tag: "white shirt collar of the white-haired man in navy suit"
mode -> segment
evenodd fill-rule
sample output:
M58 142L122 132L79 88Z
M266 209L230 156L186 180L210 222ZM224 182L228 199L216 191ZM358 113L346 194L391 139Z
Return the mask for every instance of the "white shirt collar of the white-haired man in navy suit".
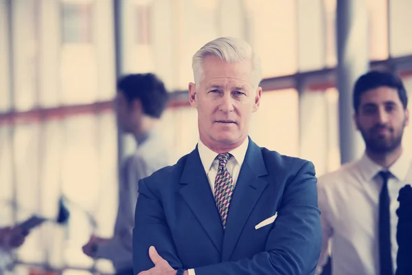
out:
M238 162L239 166L242 166L244 157L246 155L247 147L249 146L249 138L246 138L238 148L234 148L232 151L228 152L233 155L233 158ZM209 172L211 164L213 164L214 159L218 156L218 153L211 151L201 140L198 141L198 151L201 157L201 162L206 173Z

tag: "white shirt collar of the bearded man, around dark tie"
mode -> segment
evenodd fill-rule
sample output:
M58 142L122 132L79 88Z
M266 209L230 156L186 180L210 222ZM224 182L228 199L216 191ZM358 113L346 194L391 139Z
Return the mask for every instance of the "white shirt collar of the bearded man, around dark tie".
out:
M376 164L376 162L374 162L372 159L370 159L366 153L363 154L363 157L359 161L359 164L361 165L361 173L363 174L363 177L366 181L373 179L381 170L386 170L379 164ZM402 152L400 157L396 159L396 162L394 162L391 167L389 167L389 172L391 172L391 174L400 181L404 181L407 177L410 165L411 159L409 159L406 153Z

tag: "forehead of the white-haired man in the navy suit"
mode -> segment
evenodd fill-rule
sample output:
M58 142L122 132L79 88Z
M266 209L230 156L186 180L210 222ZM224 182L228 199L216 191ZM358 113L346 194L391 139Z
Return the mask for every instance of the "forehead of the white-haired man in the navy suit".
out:
M203 82L210 83L230 82L238 85L251 86L252 63L249 60L238 63L220 61L215 56L207 56L203 61Z

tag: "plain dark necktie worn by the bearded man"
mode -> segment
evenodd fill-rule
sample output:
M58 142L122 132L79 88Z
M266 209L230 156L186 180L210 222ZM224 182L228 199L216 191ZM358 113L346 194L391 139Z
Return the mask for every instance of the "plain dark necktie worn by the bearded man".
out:
M382 190L379 195L379 266L380 275L392 275L392 256L391 256L391 214L389 206L391 199L388 191L389 172L380 172L383 179Z

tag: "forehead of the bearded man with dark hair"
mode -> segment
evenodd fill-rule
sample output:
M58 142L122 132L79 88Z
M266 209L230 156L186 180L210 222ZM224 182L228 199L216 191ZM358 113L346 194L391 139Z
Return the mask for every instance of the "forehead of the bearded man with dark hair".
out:
M365 91L361 96L361 106L364 104L382 104L385 102L402 104L402 102L400 102L398 90L384 86Z

